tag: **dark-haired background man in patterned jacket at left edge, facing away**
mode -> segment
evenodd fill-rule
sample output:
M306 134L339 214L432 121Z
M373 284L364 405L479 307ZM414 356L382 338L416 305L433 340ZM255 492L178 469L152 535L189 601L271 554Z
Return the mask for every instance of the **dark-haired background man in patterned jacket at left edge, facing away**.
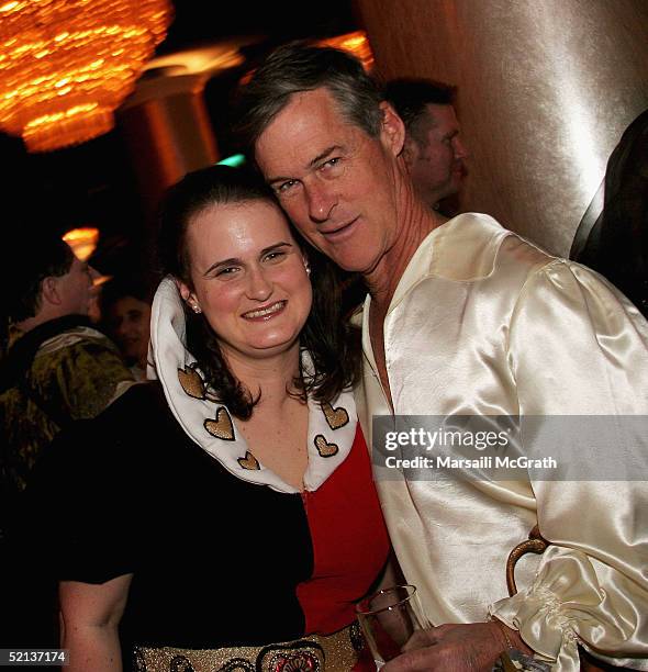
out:
M4 299L11 326L0 362L0 475L9 500L65 425L98 415L134 382L114 344L90 326L94 271L54 233L32 246L14 236L4 249L27 253L12 265Z

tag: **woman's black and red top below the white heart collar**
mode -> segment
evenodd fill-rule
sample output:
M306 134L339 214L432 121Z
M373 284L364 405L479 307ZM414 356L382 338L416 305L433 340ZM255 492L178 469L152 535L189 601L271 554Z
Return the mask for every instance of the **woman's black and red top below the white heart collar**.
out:
M34 572L134 574L124 651L289 641L327 627L326 614L348 625L388 550L361 434L303 500L230 473L185 434L158 383L63 432L26 495L24 529L48 557L31 553Z

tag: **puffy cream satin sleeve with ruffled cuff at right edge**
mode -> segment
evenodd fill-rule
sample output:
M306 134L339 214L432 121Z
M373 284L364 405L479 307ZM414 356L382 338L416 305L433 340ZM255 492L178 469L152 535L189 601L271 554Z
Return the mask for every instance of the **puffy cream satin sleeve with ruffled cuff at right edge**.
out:
M521 416L648 415L648 328L614 287L555 260L528 278L509 334ZM648 436L630 456L648 473ZM574 456L574 459L578 459ZM535 579L490 614L561 672L578 646L648 670L648 495L645 481L532 480L551 546Z

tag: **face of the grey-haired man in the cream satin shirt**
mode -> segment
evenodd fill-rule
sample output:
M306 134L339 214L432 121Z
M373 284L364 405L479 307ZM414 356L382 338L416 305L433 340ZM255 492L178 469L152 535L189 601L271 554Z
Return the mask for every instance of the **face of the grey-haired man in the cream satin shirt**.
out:
M321 88L293 94L255 154L303 236L342 268L367 275L396 239L395 157L402 142L389 123L370 137Z

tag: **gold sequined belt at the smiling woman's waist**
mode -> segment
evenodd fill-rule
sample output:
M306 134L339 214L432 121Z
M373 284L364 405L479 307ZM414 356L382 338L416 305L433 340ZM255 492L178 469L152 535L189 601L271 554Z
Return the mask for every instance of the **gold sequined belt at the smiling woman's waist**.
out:
M137 672L345 672L365 641L357 623L334 635L310 635L266 647L175 649L135 647Z

